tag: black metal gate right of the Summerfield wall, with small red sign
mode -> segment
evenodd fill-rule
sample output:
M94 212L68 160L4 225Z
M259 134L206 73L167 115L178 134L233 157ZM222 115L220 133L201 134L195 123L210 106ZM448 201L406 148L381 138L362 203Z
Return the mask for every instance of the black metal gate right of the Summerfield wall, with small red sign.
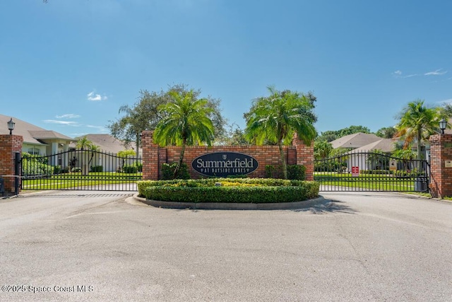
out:
M428 192L429 163L381 152L348 152L314 161L321 191Z

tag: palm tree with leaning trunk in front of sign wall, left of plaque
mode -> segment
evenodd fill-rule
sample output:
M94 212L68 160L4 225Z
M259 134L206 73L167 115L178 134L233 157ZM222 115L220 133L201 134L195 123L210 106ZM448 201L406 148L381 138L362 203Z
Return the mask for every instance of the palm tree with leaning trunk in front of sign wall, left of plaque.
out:
M174 170L174 178L184 161L184 152L187 145L212 145L214 139L214 126L208 117L213 109L208 107L207 99L196 99L194 91L179 93L169 92L173 101L162 105L159 110L165 112L164 117L157 124L154 132L154 141L160 146L182 146L179 162Z

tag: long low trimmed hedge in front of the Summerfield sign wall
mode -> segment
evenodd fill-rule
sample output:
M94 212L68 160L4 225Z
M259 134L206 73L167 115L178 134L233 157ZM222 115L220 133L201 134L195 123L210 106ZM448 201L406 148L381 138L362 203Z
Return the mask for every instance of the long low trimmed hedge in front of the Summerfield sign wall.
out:
M208 178L201 180L143 180L138 192L165 202L300 202L319 196L319 183L273 178Z

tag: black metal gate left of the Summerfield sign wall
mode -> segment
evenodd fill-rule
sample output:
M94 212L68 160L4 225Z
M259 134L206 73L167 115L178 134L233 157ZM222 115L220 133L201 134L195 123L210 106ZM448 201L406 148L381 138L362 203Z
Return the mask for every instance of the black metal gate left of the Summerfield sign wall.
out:
M22 190L136 191L142 179L141 158L114 153L75 150L49 156L24 153Z

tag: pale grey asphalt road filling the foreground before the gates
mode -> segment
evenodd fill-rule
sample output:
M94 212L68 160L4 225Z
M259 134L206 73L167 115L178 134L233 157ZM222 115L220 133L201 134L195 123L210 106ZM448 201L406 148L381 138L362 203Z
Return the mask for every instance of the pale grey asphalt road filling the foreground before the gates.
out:
M452 301L452 203L192 211L130 194L0 199L0 301Z

